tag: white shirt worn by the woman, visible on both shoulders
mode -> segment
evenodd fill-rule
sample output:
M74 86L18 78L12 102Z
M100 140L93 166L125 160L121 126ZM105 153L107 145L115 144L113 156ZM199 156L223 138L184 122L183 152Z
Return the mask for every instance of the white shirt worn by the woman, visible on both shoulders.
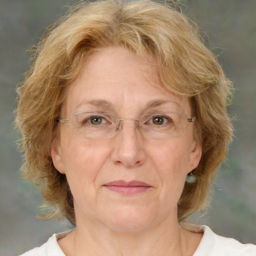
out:
M256 256L256 245L243 244L233 238L215 234L208 226L181 224L193 232L203 232L202 239L193 256ZM58 245L57 239L66 236L70 231L53 234L40 247L33 248L20 256L65 256Z

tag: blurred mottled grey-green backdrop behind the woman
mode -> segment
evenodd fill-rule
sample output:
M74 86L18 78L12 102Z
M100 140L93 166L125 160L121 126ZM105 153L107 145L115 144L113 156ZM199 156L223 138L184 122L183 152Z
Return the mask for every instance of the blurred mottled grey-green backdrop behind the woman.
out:
M36 218L38 189L20 178L13 109L16 86L29 63L30 46L74 0L0 0L0 255L40 245L68 223ZM182 12L206 32L206 44L234 82L235 138L214 183L211 207L190 220L216 233L256 243L256 1L180 0ZM209 43L210 42L210 43Z

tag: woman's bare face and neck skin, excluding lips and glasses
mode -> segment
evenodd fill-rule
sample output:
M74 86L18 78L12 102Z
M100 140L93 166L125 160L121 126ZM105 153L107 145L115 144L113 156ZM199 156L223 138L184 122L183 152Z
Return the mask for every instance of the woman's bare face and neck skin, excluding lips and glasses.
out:
M94 52L68 88L61 118L79 111L126 118L173 111L191 117L188 99L161 87L150 63L150 56L122 47ZM74 198L76 229L58 240L67 256L193 254L202 234L181 228L177 220L185 177L201 157L192 123L183 136L167 139L143 137L133 120L122 121L116 136L103 139L74 136L69 124L60 124L51 156ZM149 188L121 194L105 186L115 180L139 180Z

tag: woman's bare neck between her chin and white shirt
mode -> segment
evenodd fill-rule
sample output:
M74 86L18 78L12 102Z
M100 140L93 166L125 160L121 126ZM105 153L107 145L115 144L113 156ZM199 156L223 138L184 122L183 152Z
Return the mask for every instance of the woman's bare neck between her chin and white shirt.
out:
M184 256L186 245L183 229L171 219L136 232L115 231L98 223L95 228L93 221L83 224L77 219L70 240L73 256Z

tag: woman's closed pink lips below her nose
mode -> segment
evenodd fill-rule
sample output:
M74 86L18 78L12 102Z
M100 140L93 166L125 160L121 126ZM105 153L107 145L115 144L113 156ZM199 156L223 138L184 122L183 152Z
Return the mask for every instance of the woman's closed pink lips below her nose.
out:
M135 195L145 192L151 186L139 180L132 180L128 182L124 180L115 180L104 184L104 187L123 195Z

